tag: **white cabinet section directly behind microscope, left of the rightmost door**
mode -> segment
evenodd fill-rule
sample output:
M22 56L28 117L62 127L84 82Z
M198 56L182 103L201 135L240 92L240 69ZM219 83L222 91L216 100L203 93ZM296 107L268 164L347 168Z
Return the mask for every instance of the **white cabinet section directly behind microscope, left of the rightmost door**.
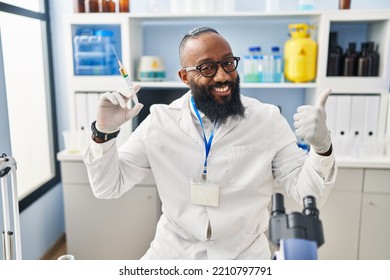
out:
M325 238L325 243L318 250L319 259L357 259L362 186L363 169L339 170L332 192L319 208ZM303 207L280 188L275 191L284 195L287 214L302 212Z

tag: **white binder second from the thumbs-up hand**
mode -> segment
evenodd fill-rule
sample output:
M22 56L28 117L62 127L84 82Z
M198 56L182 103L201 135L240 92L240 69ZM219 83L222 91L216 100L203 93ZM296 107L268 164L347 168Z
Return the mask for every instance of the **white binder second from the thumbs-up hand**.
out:
M350 152L353 156L362 156L365 153L363 147L363 134L365 122L365 95L352 95L351 121L349 128Z

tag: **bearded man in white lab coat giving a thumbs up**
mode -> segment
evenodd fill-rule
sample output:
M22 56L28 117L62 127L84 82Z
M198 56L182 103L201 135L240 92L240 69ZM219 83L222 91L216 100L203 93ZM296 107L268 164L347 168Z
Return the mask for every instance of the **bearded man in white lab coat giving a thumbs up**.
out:
M240 95L238 61L214 29L190 31L178 72L190 91L153 105L119 149L93 134L84 161L96 197L119 197L153 172L163 214L143 259L270 259L264 231L274 180L299 202L310 194L320 204L331 190L330 91L294 116L297 135L311 144L307 156L276 106ZM115 136L138 114L141 104L126 107L132 94L100 99L97 131Z

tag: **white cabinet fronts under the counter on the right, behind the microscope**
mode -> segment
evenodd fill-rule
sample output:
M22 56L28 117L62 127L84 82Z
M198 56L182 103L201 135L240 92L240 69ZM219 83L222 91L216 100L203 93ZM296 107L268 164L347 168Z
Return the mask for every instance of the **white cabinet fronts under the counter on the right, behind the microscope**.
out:
M319 208L325 237L319 259L390 258L389 181L389 168L339 169L328 200ZM285 195L279 188L275 191ZM286 213L302 211L302 206L286 195L285 208Z

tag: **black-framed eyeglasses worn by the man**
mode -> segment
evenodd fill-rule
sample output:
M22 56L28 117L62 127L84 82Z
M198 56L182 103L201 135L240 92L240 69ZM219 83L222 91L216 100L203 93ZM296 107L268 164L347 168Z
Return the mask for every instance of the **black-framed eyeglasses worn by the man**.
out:
M186 67L183 68L183 70L186 71L193 71L197 70L199 71L204 77L213 77L218 72L218 64L221 64L222 69L226 73L233 72L237 69L238 62L240 61L240 58L237 56L227 57L221 61L215 61L215 62L205 62L198 66L193 67Z

